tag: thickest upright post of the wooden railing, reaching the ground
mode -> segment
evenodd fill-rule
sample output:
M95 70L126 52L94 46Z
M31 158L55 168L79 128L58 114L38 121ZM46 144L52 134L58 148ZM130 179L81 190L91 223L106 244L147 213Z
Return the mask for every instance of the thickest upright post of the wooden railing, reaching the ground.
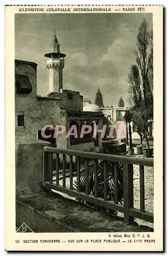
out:
M123 164L124 180L124 222L132 224L134 218L128 211L133 208L133 164Z

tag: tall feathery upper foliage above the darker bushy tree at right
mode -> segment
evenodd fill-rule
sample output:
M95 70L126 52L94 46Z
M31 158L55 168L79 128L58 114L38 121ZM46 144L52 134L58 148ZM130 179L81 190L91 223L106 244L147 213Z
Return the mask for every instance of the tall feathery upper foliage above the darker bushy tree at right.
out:
M133 108L141 106L142 101L150 109L153 117L153 33L143 20L137 35L136 65L132 65L128 75L129 103Z

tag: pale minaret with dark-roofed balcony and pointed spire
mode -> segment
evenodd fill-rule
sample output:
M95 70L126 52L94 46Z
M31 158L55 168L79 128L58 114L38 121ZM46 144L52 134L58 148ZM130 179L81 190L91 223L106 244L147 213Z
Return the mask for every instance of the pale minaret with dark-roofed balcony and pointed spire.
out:
M50 53L44 54L47 57L46 65L49 75L49 93L60 93L60 90L63 89L63 68L66 54L60 53L60 45L55 35L55 30L50 49Z

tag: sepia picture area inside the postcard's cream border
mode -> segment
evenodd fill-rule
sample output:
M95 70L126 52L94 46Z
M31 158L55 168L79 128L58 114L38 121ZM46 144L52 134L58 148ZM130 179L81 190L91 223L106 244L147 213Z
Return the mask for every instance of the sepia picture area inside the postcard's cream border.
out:
M152 231L152 14L15 14L15 90L17 227Z

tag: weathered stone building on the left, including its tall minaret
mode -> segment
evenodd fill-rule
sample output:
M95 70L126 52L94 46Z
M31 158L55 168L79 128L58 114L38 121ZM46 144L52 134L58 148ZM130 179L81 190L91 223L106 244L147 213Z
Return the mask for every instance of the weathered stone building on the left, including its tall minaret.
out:
M37 95L37 63L15 60L15 134L16 136L47 140L60 148L92 151L94 146L102 146L101 139L92 139L92 134L80 139L66 134L74 124L78 135L81 126L95 123L100 127L103 123L103 113L83 111L83 96L79 92L63 89L63 69L66 54L60 52L60 44L53 34L50 53L46 57L48 69L48 95ZM45 60L44 60L45 61ZM42 128L52 125L45 131L50 138L42 137ZM57 125L65 125L66 132L53 137ZM99 136L100 137L100 136Z

